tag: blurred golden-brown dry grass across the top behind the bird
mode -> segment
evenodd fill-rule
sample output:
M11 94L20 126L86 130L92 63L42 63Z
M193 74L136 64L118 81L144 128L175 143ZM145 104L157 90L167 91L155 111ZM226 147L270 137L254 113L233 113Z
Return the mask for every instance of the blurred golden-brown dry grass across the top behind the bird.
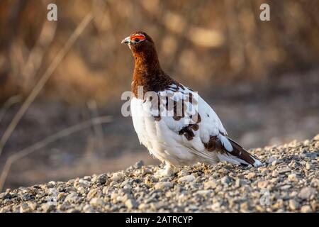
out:
M30 93L76 21L89 11L93 23L54 73L43 97L85 104L91 99L106 102L128 90L133 60L120 42L135 30L152 35L169 74L194 86L270 79L318 65L316 0L267 1L271 7L267 22L259 20L262 0L57 0L57 23L46 22L46 1L21 2L0 3L4 100ZM52 40L52 35L43 38L52 33ZM34 57L37 52L40 57Z

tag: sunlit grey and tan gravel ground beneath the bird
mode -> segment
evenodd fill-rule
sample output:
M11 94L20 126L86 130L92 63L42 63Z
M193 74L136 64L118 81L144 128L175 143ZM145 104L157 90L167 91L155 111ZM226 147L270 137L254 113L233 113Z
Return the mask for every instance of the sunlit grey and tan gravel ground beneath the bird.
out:
M250 150L264 166L182 167L157 179L137 162L121 172L7 189L0 212L318 212L319 134Z

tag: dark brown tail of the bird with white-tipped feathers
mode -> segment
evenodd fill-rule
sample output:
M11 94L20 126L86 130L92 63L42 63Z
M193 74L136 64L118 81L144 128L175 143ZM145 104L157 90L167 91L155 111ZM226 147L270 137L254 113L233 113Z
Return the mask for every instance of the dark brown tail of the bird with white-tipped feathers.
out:
M242 148L242 146L234 140L228 138L228 141L232 145L233 150L225 153L218 153L218 159L220 161L231 162L236 165L253 165L254 167L262 165L262 162L257 160L253 155L250 155L247 150Z

